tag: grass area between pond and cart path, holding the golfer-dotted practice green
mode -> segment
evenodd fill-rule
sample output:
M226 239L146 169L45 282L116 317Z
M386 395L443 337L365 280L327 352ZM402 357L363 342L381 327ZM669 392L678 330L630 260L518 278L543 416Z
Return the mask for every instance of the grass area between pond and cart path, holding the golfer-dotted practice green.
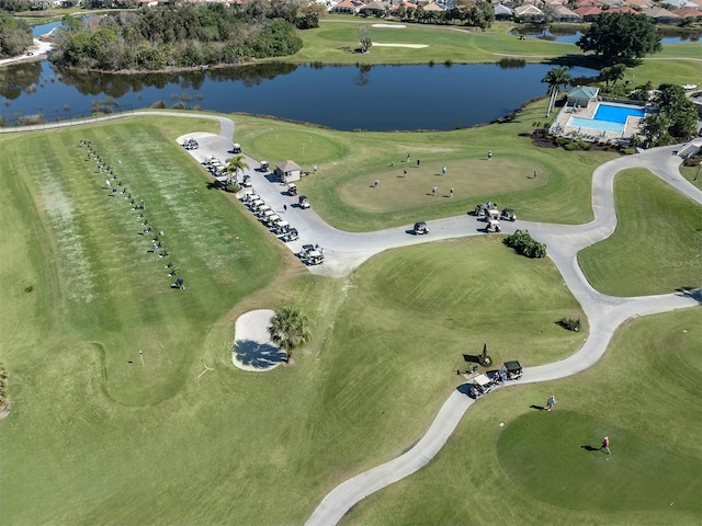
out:
M335 151L343 153L332 160L306 156L307 170L312 163L319 170L298 185L317 213L337 228L367 231L406 225L418 217L427 220L465 214L488 199L516 208L524 220L587 222L592 219L592 171L616 155L535 148L529 136L534 122L544 122L544 114L545 101L540 101L526 106L513 122L419 134L333 132L244 115L236 121L237 140L245 151L272 163L282 159L259 149L259 136L312 134L313 141L322 137L338 145ZM299 148L302 155L302 145ZM491 161L487 161L488 150L492 151ZM409 164L405 162L408 152ZM435 175L444 164L446 175ZM408 178L398 179L405 168ZM539 170L539 178L528 179L534 170ZM370 186L376 179L381 192L374 194ZM454 187L454 198L427 196L434 185L440 195Z

